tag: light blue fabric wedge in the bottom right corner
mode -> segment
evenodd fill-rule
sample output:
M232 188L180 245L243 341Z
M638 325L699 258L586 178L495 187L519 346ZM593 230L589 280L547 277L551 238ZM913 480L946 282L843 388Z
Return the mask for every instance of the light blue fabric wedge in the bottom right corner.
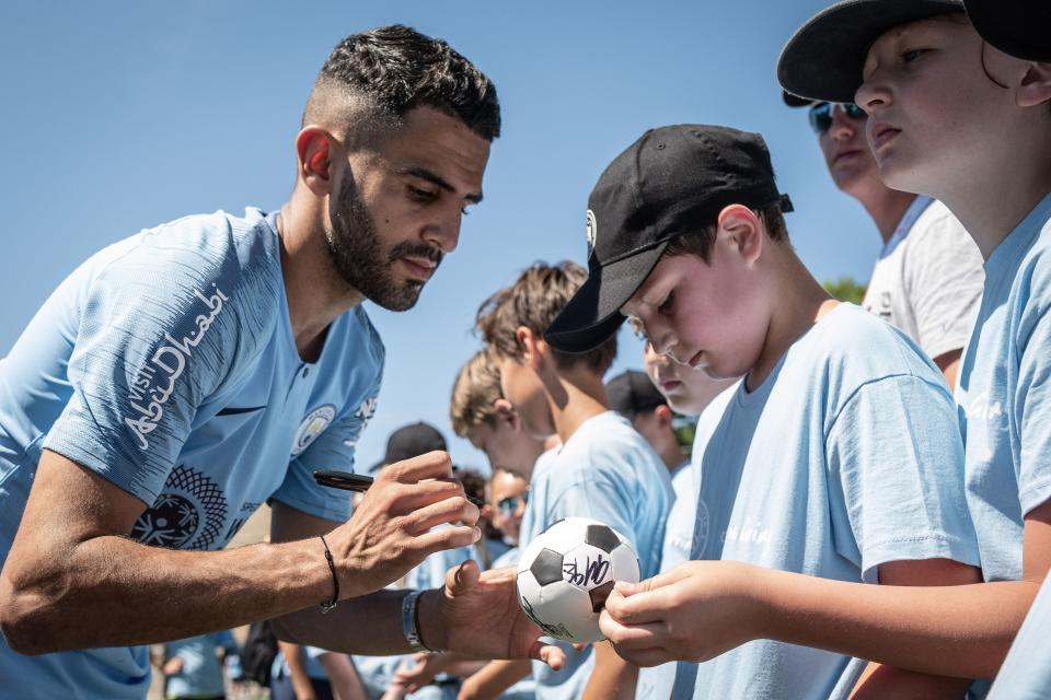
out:
M996 675L989 700L1047 700L1051 698L1051 579L1040 586L1029 615L1018 630Z

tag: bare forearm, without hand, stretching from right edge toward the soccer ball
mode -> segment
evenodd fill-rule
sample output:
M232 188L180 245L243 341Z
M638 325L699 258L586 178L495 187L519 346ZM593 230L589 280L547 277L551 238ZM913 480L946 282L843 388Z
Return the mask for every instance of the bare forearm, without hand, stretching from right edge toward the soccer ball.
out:
M877 586L769 570L757 585L770 610L761 637L961 678L995 676L1039 588Z

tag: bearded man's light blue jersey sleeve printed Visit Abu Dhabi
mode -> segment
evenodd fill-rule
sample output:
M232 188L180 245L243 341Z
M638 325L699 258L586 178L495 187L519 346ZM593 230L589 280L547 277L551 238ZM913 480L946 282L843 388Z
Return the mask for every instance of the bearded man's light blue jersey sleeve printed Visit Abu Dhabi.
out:
M263 335L257 290L241 288L222 232L210 243L147 236L109 261L79 296L72 395L44 447L145 503L154 501L198 407Z

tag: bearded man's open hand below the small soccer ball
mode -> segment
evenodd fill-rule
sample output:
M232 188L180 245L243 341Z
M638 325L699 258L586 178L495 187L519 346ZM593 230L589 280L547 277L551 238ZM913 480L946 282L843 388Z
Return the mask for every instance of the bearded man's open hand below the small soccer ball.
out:
M522 612L513 567L480 574L465 561L446 574L446 585L419 598L423 641L478 658L536 658L554 669L566 656L540 641L541 631Z

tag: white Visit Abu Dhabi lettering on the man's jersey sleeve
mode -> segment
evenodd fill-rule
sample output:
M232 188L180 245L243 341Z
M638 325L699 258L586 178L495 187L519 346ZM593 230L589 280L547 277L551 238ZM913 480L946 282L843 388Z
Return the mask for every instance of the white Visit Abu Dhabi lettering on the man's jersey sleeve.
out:
M212 284L212 287L216 287ZM171 398L175 390L175 382L186 371L186 363L189 361L190 351L200 345L205 334L215 323L216 317L222 313L223 302L229 298L216 287L216 293L211 296L205 296L204 293L195 289L194 296L199 299L210 311L208 314L200 314L196 318L197 328L181 340L172 338L170 332L164 334L164 340L168 345L161 346L150 361L143 363L135 373L131 381L131 388L128 390L128 402L138 413L138 418L131 419L125 417L124 422L138 439L139 450L149 450L150 443L147 435L157 430L157 425L164 417L164 405ZM143 406L145 399L150 399L149 404Z

